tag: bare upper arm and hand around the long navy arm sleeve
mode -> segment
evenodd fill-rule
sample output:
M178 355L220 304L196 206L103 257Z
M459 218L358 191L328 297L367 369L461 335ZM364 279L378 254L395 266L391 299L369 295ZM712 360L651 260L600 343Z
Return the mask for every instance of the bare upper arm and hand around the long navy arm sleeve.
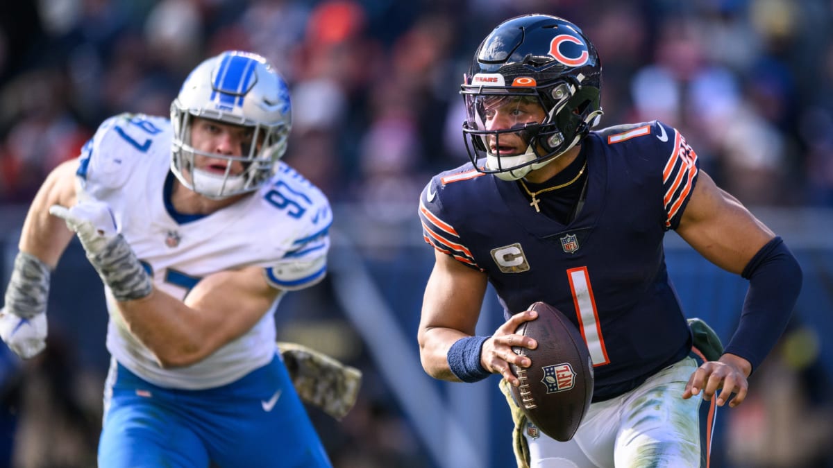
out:
M706 259L736 274L775 236L702 171L677 233ZM702 391L706 400L717 394L717 405L723 406L736 393L729 406L740 405L746 399L746 379L751 371L746 359L724 354L719 361L706 362L691 375L683 398Z

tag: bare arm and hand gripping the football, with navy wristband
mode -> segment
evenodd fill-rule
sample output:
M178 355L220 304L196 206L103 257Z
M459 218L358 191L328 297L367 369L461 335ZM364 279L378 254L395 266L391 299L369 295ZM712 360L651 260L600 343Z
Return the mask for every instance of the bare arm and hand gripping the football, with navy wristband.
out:
M422 367L437 379L459 381L448 364L448 351L456 341L475 334L483 296L486 293L486 275L462 265L440 251L435 251L436 261L426 286L422 302L422 315L418 332ZM514 331L523 321L535 318L533 312L524 311L512 316L498 327L481 349L481 366L491 373L501 374L512 385L518 385L509 363L529 366L529 360L517 356L511 346L533 349L536 343Z

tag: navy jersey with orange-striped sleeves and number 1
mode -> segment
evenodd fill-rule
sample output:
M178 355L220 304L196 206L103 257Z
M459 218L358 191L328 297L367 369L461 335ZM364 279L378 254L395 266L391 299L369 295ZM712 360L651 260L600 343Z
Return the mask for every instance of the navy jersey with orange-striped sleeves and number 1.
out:
M656 121L591 132L582 144L586 201L569 224L536 212L517 182L471 164L431 179L420 217L427 242L488 275L506 318L535 301L570 317L601 401L691 349L662 239L678 226L699 165L685 138Z

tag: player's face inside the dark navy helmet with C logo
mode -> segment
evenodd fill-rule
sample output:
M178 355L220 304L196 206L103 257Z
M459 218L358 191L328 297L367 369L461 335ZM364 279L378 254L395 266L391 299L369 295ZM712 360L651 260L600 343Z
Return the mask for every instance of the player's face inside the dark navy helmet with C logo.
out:
M533 97L486 97L483 102L486 130L510 130L522 128L527 123L544 122L546 112ZM489 152L496 155L513 155L526 152L529 141L521 133L501 133L500 137L488 135Z

